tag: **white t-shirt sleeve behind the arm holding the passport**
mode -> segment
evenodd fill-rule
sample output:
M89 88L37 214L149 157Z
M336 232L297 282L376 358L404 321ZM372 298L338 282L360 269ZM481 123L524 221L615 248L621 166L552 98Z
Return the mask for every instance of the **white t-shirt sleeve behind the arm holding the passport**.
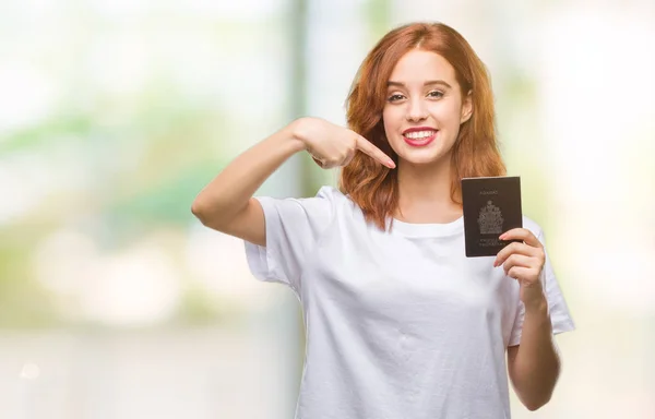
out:
M539 229L537 239L546 247L546 240L544 231ZM548 309L550 312L550 323L552 324L552 334L569 332L575 330L575 324L571 314L569 313L569 307L560 290L557 277L550 264L550 258L548 251L546 251L546 263L541 271L541 280L544 289L546 290L546 299L548 300ZM525 319L525 306L522 301L519 301L519 308L516 309L516 318L512 333L510 335L510 342L508 346L515 346L521 344L521 333L523 332L523 320Z

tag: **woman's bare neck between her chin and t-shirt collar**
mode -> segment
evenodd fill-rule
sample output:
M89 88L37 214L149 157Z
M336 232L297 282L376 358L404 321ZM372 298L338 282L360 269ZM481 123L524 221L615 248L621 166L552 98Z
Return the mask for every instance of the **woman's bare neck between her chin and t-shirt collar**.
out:
M443 163L413 165L398 163L398 210L396 217L409 223L450 223L462 215L451 197L450 156Z

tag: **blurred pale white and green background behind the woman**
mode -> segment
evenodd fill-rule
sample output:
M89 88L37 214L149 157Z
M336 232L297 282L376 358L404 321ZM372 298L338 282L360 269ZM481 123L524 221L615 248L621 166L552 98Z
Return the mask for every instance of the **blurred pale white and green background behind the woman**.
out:
M294 118L344 123L415 20L487 63L577 326L513 417L655 418L653 0L1 0L0 418L291 418L299 304L191 202ZM298 155L259 194L335 182Z

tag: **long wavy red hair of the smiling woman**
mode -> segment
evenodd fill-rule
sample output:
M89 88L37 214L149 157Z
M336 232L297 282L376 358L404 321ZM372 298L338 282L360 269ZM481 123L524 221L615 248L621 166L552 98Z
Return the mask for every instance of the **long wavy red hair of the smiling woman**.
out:
M393 68L415 48L443 57L455 70L462 97L471 92L473 113L460 127L451 154L451 199L461 204L462 178L503 176L505 166L496 140L493 94L487 69L455 29L438 22L419 22L388 33L368 53L355 76L346 100L347 124L398 163L384 132L382 110ZM357 153L342 168L338 188L361 208L367 222L385 229L388 217L398 205L396 173L364 153Z

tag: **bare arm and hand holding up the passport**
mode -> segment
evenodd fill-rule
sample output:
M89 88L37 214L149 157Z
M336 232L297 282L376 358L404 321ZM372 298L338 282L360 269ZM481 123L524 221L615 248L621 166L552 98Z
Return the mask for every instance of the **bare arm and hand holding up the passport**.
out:
M525 228L500 236L501 240L522 240L503 248L493 266L502 265L505 275L519 280L525 318L521 344L508 348L508 371L516 395L529 410L546 405L560 373L560 359L552 336L543 272L544 246Z

